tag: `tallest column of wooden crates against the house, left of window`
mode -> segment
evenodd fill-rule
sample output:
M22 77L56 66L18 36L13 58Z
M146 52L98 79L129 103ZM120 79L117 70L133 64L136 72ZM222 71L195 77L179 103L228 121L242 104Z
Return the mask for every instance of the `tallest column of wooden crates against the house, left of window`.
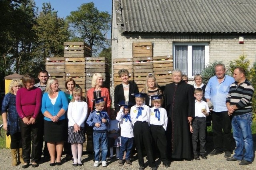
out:
M153 74L152 56L152 42L132 43L133 76L139 91L146 87L148 74Z

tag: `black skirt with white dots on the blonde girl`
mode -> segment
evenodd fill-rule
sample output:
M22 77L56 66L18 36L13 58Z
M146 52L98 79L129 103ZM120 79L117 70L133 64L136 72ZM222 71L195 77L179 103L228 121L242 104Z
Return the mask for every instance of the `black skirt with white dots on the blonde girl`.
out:
M80 127L80 131L74 132L74 127L68 127L68 143L84 143L85 142L85 128Z

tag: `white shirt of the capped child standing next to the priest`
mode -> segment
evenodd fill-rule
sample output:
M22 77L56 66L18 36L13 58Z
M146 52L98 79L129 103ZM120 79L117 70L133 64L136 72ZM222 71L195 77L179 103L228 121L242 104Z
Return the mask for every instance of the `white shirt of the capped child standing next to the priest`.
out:
M160 125L166 130L167 123L168 123L168 117L166 110L162 107L159 107L159 112L160 112L160 121L158 121L158 118L156 117L156 112L154 112L154 109L156 107L150 108L151 114L150 114L150 125Z

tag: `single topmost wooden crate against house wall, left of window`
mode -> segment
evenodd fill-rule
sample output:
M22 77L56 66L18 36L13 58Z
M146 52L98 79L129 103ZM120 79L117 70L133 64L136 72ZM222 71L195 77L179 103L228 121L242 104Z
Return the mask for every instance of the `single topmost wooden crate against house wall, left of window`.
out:
M152 57L152 42L132 43L132 57Z

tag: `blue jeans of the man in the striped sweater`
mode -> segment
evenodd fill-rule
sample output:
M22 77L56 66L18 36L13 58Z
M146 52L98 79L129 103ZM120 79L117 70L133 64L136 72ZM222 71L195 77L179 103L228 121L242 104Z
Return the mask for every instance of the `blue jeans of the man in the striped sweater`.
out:
M250 161L253 160L253 142L252 142L252 113L234 116L232 118L233 136L236 141L234 158ZM245 149L245 152L243 152ZM243 154L244 153L244 154ZM244 155L244 156L243 156Z

